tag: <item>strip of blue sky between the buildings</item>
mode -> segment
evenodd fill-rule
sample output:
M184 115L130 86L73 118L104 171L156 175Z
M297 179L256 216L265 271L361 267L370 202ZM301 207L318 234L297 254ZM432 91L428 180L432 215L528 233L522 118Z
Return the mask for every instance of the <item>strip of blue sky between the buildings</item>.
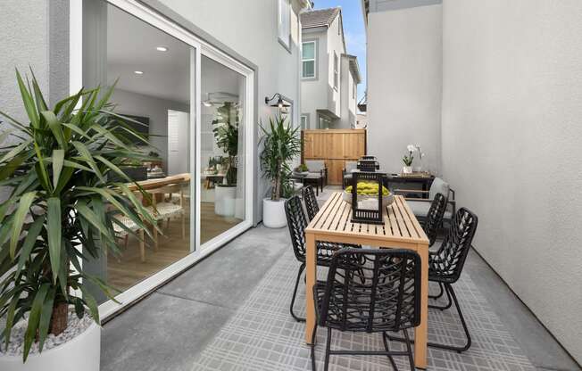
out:
M358 57L362 84L358 86L358 101L366 90L366 31L364 29L360 0L313 0L315 9L342 7L345 45L347 53Z

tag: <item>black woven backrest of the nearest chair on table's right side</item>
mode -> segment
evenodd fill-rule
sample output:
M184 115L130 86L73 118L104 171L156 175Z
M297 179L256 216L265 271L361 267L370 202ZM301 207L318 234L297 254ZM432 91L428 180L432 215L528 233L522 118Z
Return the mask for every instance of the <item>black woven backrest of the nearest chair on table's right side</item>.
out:
M450 283L456 282L461 276L477 224L477 215L466 208L459 209L443 244L436 251L433 269Z

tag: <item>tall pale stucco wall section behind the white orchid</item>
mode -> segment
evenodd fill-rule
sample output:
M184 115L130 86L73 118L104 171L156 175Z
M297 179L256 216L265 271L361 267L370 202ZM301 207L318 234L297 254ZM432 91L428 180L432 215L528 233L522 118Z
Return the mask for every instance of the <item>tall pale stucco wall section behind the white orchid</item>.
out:
M369 14L368 152L387 171L402 170L407 144L440 171L441 29L440 4Z

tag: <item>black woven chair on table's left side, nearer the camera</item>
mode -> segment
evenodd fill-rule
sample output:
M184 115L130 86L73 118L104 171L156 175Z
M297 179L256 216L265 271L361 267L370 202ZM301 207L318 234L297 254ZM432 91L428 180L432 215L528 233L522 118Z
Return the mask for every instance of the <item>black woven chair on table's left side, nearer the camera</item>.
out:
M293 307L295 306L295 297L297 296L297 288L299 286L299 279L303 270L305 269L305 227L307 227L307 218L303 211L303 205L298 196L293 196L285 202L285 214L287 215L287 227L289 228L289 235L291 235L291 243L293 244L293 251L295 258L301 262L299 271L297 272L297 280L295 281L295 289L293 291L293 299L291 300L291 316L298 322L305 321L305 318L295 316ZM359 245L344 244L344 243L328 243L317 242L317 265L329 267L331 258L334 252L345 247L360 248Z

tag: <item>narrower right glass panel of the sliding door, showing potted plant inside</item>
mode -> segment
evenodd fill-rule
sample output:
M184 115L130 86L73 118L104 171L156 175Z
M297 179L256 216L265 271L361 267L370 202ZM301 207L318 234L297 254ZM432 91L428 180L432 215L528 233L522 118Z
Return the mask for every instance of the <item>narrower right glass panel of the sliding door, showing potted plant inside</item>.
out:
M200 243L245 219L245 78L202 57Z

